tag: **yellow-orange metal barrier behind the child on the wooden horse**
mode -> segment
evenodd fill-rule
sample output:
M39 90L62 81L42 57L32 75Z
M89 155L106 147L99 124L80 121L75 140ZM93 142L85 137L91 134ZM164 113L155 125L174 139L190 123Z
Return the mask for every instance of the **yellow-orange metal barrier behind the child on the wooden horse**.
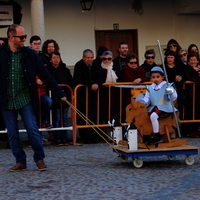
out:
M140 83L140 85L144 86L144 85L150 85L152 82L144 82L144 83ZM182 115L182 119L180 120L181 123L191 123L191 122L200 122L200 119L195 119L195 95L196 95L196 90L195 90L195 85L196 83L195 82L192 82L192 81L186 81L184 84L183 84L183 89L186 89L186 85L191 85L192 86L192 108L189 108L189 110L192 110L192 118L191 119L185 119L185 110L186 110L186 106L184 106L182 109L183 109L183 115ZM111 108L111 105L112 105L112 98L111 98L111 87L118 87L119 88L119 108L116 108L116 109L119 109L119 113L120 113L120 116L119 116L119 121L122 125L126 125L127 123L124 122L122 120L122 116L123 116L123 106L122 106L122 103L123 103L123 88L134 88L134 91L132 90L131 93L133 96L137 96L138 94L144 94L145 93L145 89L144 87L140 87L140 85L133 85L132 82L123 82L123 83L104 83L103 86L104 87L108 87L108 90L109 90L109 93L108 93L108 112L110 111L110 108ZM85 85L77 85L74 89L74 106L77 108L77 95L78 95L78 92L79 92L79 89L81 87L85 87L85 90L86 90L86 96L84 97L85 99L82 99L83 101L85 102L88 102L88 91L89 91L89 88L88 86L85 86ZM100 91L101 90L98 90L97 91L97 115L96 115L96 119L97 119L97 123L95 126L98 126L98 127L109 127L110 125L108 123L104 123L104 124L101 124L99 123L99 110L100 110L100 107L99 107L99 102L100 102ZM86 104L86 112L84 113L86 115L86 118L89 117L88 115L88 107L89 105ZM111 113L108 113L108 121L111 121L112 119L110 118L110 114ZM78 128L88 128L88 127L94 127L94 125L88 125L87 124L87 120L85 122L85 124L78 124L77 123L77 115L75 114L75 119L74 119L74 123L75 123L75 127L74 127L74 130L75 129L78 129Z

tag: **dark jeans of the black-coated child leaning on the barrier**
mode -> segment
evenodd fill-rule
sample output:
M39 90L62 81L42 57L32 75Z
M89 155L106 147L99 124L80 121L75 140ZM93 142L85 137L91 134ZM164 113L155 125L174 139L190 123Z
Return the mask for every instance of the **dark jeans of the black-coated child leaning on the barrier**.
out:
M60 112L61 110L59 108L52 109L52 121L54 128L68 126L68 119L67 119L68 109L69 107L62 107L62 113ZM67 141L67 130L55 131L54 137L57 142Z

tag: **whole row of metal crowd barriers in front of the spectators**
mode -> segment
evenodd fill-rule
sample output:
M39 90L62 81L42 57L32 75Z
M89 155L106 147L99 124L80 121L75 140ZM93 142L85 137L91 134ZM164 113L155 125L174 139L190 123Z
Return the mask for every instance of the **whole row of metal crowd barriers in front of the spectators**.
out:
M145 85L149 85L151 84L151 82L144 82L144 83L140 83L140 85L142 86L145 86ZM39 128L40 131L56 131L56 130L72 130L72 139L73 139L73 145L76 145L76 140L77 140L77 129L79 128L88 128L88 127L109 127L109 123L108 121L111 121L112 118L111 118L111 108L112 108L112 104L113 102L118 102L118 105L119 107L115 108L115 110L118 110L118 113L119 113L119 122L122 124L122 125L127 125L127 123L125 121L123 121L123 116L125 115L125 107L123 106L123 91L124 89L132 89L131 91L131 94L132 96L137 96L138 94L144 94L145 93L145 89L144 87L140 87L140 85L133 85L132 82L123 82L123 83L104 83L102 85L102 87L105 87L107 88L107 91L108 91L108 101L106 103L107 105L107 121L104 122L104 123L101 123L101 119L100 119L100 112L101 112L101 89L97 90L96 91L96 97L97 97L97 107L96 107L96 111L94 110L93 112L96 112L96 116L95 116L95 122L93 125L89 125L88 123L88 119L92 121L92 119L89 118L89 105L88 105L88 102L89 102L89 88L88 86L85 86L85 85L77 85L74 90L68 86L68 85L65 85L65 84L60 84L59 86L61 87L66 87L68 88L69 92L70 92L70 102L72 103L73 107L75 108L74 109L71 109L71 124L72 126L70 127L59 127L59 128L51 128L51 129L45 129L45 128ZM181 120L180 122L181 123L193 123L193 122L200 122L200 119L196 119L195 118L195 114L196 114L196 110L195 110L195 104L196 104L196 83L195 82L192 82L192 81L187 81L184 83L183 85L183 89L187 90L187 85L190 85L192 86L192 89L190 90L192 92L192 95L190 96L191 97L191 101L192 101L192 108L189 110L192 111L192 117L191 119L185 119L186 117L186 107L187 106L184 106L182 108L182 116L181 116ZM77 110L79 110L79 107L78 107L78 95L79 95L79 91L81 88L85 88L85 96L84 97L81 97L79 98L79 101L84 101L85 102L85 112L83 112L83 114L85 115L85 123L84 124L78 124L77 122ZM116 97L113 97L112 96L112 88L118 88L116 91L118 91L119 93L117 94L117 100L115 99ZM141 89L142 88L142 89ZM103 94L104 96L106 96L106 94ZM114 99L113 99L114 98ZM41 113L41 106L39 108L40 110L40 113ZM124 109L124 110L123 110ZM40 120L41 120L41 117L40 117ZM6 130L2 130L0 131L0 133L6 133L7 131ZM25 129L20 129L19 132L26 132Z

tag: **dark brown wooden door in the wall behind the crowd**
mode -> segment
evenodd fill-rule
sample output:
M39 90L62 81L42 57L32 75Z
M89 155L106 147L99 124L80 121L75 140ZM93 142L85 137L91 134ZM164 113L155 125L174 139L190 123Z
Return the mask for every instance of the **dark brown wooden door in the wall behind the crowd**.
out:
M99 46L105 46L113 53L113 58L118 56L118 45L127 42L129 53L138 55L138 31L134 30L104 30L95 31L96 52Z

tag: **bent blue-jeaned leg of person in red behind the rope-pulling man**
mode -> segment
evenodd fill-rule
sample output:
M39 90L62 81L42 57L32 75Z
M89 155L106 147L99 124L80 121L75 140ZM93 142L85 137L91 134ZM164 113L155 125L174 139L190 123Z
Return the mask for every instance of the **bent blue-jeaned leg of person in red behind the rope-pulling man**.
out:
M47 123L48 119L49 119L49 114L50 114L50 110L52 107L52 99L46 95L46 94L42 94L40 96L41 99L41 107L42 107L42 117L41 117L41 122L42 123Z

